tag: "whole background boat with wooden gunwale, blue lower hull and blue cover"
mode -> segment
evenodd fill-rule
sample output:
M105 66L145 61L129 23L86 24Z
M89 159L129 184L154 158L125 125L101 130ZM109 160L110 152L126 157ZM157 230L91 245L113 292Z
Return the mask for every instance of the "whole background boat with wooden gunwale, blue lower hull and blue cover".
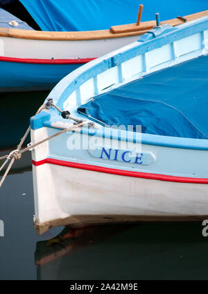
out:
M153 28L155 21L150 19L155 10L162 11L163 19L173 18L162 22L173 26L208 14L204 1L197 1L197 5L191 2L177 6L175 1L164 4L161 0L153 6L144 0L144 22L140 6L136 24L116 26L133 22L139 3L103 0L99 6L97 1L89 6L86 0L83 5L75 0L50 0L46 10L42 1L21 0L38 26L48 31L35 31L0 8L0 92L50 90L80 65L130 44ZM182 16L178 16L180 13ZM66 31L69 28L71 31Z

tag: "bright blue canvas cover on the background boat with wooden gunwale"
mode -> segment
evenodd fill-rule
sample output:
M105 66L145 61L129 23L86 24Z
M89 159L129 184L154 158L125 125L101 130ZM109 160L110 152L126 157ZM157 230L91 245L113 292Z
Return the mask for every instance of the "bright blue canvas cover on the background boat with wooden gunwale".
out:
M94 31L137 21L139 3L144 4L141 21L171 19L208 9L207 0L19 0L43 31Z

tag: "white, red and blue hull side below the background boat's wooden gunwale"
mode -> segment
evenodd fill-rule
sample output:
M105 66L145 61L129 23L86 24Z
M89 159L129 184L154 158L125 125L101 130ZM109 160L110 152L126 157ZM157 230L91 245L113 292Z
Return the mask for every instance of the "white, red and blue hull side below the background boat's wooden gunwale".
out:
M138 38L64 41L0 36L0 92L51 90L81 65Z

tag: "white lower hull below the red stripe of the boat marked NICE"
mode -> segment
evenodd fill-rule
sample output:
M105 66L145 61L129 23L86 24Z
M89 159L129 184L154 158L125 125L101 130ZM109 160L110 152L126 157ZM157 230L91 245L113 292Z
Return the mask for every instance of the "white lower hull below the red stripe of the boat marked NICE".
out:
M47 179L45 175L47 174ZM33 162L35 227L141 221L193 221L208 217L207 184L126 177ZM41 199L40 199L41 198Z

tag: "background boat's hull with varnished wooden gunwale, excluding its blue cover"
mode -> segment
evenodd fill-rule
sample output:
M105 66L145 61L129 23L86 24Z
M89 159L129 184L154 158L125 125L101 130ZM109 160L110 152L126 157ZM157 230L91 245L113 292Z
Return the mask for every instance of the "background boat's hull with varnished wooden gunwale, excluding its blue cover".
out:
M188 15L188 21L207 15L207 10ZM182 19L162 24L177 26ZM0 28L0 92L49 90L64 76L107 52L135 42L155 26L129 24L110 30L44 32ZM141 30L140 30L141 28ZM123 31L124 30L124 31Z

